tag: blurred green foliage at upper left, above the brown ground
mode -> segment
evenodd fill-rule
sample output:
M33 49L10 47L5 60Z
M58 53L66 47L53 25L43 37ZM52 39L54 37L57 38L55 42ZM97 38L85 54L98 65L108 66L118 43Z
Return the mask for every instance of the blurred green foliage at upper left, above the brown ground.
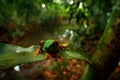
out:
M42 7L43 4L45 7ZM64 13L63 7L53 3L53 0L1 0L0 26L11 33L10 37L21 37L35 24L46 27L54 25L54 21Z

